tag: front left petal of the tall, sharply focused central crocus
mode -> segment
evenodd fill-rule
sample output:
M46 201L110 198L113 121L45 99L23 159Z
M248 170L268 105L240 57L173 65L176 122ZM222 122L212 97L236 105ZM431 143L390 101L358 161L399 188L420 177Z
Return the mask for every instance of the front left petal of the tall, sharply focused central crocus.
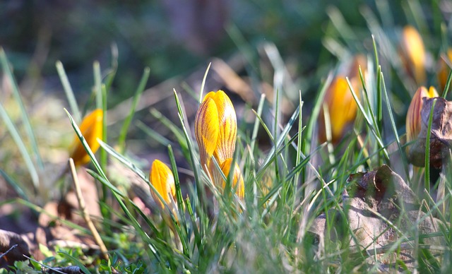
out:
M217 146L218 133L218 109L215 101L207 97L201 103L201 106L196 112L195 118L195 135L198 142L199 153L201 157L201 166L206 170L210 157Z

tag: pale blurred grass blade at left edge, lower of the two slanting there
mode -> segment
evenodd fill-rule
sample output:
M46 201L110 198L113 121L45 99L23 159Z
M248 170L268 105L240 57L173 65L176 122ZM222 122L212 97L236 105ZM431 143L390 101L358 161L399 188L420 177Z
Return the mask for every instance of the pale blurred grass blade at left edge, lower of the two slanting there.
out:
M25 165L27 166L28 172L30 172L30 177L33 182L33 186L35 188L35 191L40 188L40 179L37 174L37 170L35 165L33 165L33 161L30 157L30 154L27 151L27 148L25 146L25 143L23 143L22 138L20 138L20 134L18 130L16 129L16 126L14 126L13 121L11 121L11 118L6 113L6 110L4 109L3 105L0 103L0 117L3 119L6 129L8 129L9 133L11 134L11 137L13 138L14 142L16 143L20 155L22 155L23 160L25 161Z

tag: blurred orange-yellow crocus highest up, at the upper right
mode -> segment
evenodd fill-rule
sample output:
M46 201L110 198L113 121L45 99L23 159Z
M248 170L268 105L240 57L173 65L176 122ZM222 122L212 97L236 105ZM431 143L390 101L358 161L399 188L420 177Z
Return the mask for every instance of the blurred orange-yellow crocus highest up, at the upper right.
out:
M425 82L425 49L422 37L415 28L407 25L400 38L400 53L405 69L418 84Z

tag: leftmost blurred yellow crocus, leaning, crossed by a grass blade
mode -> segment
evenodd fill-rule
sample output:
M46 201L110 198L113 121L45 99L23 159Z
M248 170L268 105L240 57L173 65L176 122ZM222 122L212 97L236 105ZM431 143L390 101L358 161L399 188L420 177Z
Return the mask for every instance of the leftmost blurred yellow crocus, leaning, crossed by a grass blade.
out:
M85 140L93 153L95 153L100 147L99 142L97 142L97 138L102 138L103 117L102 109L95 109L87 117L85 117L85 119L83 119L82 124L79 127L83 137L85 137ZM78 136L74 139L72 147L73 150L70 157L73 159L74 165L85 165L90 162L90 156L86 153L86 150L83 148Z

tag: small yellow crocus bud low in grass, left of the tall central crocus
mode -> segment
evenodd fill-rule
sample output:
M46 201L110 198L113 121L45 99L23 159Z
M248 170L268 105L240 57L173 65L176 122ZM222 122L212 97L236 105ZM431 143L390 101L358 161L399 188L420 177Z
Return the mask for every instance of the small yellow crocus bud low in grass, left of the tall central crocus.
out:
M174 185L174 176L171 169L160 160L154 160L152 167L150 168L150 184L152 184L155 190L162 196L163 201L169 206L171 210L174 210L174 203L176 202L176 187ZM160 205L162 209L165 209L165 204L159 198L157 193L151 189L155 203Z

